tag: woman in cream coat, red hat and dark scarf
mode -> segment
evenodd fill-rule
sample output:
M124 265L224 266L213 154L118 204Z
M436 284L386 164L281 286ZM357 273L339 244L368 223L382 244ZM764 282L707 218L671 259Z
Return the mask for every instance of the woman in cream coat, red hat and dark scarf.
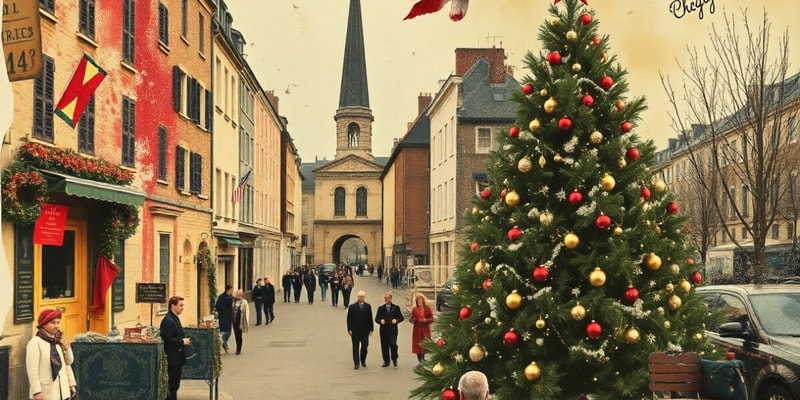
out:
M76 393L72 372L72 349L58 328L61 311L45 309L39 313L36 335L25 348L28 396L34 400L61 400Z

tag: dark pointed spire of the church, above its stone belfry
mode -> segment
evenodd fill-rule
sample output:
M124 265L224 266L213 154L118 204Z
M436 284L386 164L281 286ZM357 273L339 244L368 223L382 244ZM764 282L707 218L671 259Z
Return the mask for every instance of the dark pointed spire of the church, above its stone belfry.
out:
M342 107L369 108L367 62L364 56L364 29L361 23L360 0L350 0L347 38L344 45L342 87L339 91L339 108Z

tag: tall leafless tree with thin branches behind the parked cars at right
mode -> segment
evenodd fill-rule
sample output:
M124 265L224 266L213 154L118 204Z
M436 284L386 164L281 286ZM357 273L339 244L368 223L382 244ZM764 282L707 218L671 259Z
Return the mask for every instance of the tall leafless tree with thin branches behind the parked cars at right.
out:
M741 10L741 27L730 14L724 23L723 29L712 25L708 45L688 48L686 63L678 62L684 78L680 96L668 77L662 75L661 81L673 107L673 128L688 144L691 167L704 176L699 186L710 195L712 185L719 185L721 195L703 201L713 206L724 234L740 250L752 240L747 279L763 283L766 239L781 220L789 174L797 170L797 132L790 132L790 126L800 96L797 76L787 80L788 30L771 48L766 11L757 27L751 26L746 9ZM704 168L707 164L711 168Z

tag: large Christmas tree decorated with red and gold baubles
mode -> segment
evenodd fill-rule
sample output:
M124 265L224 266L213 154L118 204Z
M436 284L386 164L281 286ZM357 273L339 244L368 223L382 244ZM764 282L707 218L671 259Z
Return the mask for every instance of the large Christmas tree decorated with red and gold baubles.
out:
M455 399L479 370L499 399L642 399L651 352L713 351L686 219L635 132L644 99L586 0L555 3L412 397Z

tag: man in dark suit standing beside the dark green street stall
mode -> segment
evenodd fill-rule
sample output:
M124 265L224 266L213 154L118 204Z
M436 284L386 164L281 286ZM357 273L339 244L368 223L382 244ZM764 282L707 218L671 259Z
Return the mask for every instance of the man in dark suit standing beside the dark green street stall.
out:
M183 336L183 326L178 316L183 312L183 297L172 296L169 299L169 311L161 320L161 340L164 341L164 352L167 354L167 377L169 393L167 400L177 400L178 388L181 386L181 373L186 364L183 346L191 344L191 339Z

